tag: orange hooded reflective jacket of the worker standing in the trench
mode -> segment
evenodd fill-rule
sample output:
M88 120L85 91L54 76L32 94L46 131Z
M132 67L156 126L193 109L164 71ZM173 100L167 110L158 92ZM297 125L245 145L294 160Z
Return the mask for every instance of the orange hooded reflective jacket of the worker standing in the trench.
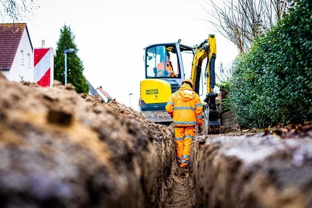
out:
M173 117L175 127L203 124L203 107L199 95L188 84L183 84L170 96L166 110Z

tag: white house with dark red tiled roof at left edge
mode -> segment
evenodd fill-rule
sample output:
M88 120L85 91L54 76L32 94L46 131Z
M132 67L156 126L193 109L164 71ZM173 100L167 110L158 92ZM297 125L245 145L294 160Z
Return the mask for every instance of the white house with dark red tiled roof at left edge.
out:
M33 45L26 23L0 24L0 71L10 81L34 82Z

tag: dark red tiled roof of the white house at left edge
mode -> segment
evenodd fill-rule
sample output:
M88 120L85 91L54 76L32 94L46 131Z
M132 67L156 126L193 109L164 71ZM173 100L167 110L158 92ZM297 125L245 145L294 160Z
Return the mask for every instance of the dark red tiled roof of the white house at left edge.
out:
M26 23L0 24L0 70L10 70L25 28L33 48Z

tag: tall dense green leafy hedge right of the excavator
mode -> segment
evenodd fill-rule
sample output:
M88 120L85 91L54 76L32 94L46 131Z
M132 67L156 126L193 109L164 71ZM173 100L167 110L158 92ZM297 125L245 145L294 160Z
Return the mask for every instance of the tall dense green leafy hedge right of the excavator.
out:
M312 119L311 0L297 0L285 19L235 59L228 98L242 127Z

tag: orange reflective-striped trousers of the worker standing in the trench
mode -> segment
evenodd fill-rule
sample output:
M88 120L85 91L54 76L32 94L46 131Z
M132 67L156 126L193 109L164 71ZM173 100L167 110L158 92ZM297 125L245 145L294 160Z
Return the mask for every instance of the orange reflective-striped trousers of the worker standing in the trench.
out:
M195 127L176 127L176 157L178 165L186 168L190 162L192 140L195 136Z

